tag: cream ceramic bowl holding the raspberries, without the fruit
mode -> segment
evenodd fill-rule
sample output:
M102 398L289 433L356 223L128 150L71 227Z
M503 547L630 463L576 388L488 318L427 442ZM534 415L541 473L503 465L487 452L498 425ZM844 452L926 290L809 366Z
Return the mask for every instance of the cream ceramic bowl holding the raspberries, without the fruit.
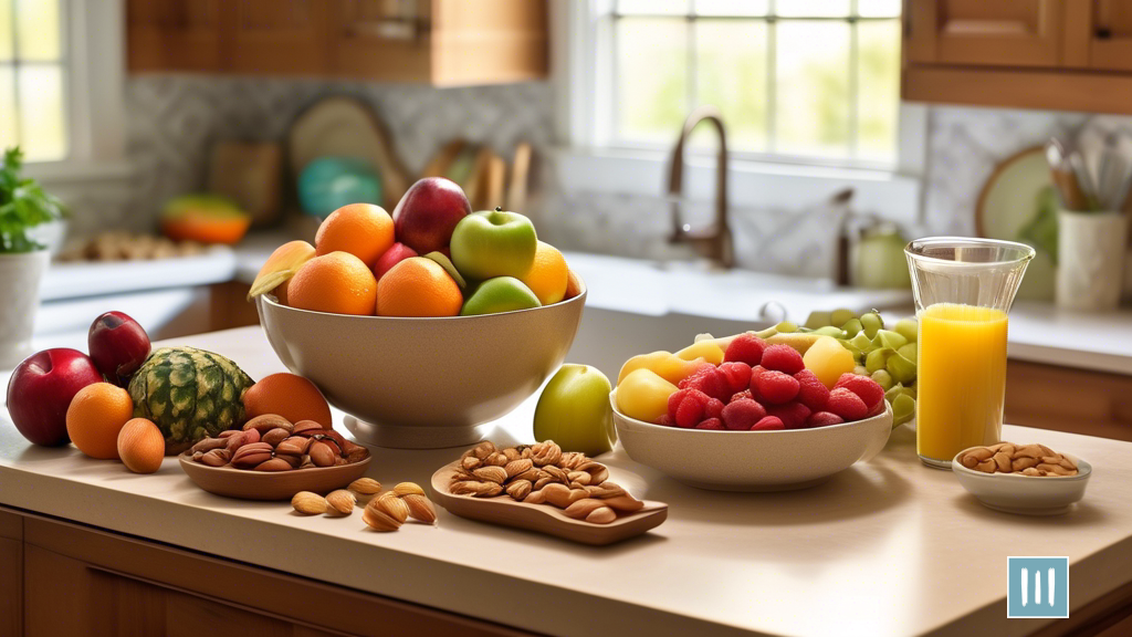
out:
M685 430L654 425L617 411L614 425L629 458L684 484L714 491L788 491L820 484L871 460L892 433L884 414L827 427L767 432Z

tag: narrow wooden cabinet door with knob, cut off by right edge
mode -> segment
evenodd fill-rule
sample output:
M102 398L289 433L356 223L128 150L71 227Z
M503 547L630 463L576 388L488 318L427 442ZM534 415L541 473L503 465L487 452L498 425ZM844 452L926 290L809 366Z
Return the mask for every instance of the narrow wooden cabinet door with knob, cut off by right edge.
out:
M1132 0L1066 0L1065 65L1132 70Z

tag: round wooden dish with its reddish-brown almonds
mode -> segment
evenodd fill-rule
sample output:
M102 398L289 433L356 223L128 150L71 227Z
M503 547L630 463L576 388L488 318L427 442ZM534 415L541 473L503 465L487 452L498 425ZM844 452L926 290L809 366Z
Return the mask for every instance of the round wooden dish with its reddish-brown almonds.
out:
M189 479L209 493L243 500L290 500L327 493L360 478L369 450L314 421L265 414L241 430L197 442L179 458Z

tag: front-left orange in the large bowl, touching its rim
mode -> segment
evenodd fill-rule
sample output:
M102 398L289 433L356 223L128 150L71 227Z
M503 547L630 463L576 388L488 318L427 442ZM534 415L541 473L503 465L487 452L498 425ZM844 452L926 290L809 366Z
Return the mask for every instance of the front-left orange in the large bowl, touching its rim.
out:
M303 263L286 286L291 307L334 314L374 314L377 280L360 258L332 252Z

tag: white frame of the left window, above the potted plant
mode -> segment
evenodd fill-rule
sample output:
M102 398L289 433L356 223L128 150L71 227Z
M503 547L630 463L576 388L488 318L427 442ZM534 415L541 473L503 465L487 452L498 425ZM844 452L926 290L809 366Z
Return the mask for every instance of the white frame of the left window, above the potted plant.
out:
M123 180L126 161L125 0L61 0L66 46L67 156L28 162L44 184Z

